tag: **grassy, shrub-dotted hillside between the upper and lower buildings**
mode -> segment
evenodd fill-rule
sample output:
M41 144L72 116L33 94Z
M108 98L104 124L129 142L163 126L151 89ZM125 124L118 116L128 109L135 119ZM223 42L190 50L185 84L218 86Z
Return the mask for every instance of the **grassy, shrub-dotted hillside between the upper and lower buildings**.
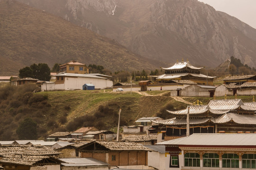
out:
M110 90L56 91L31 93L33 86L0 87L0 140L14 140L16 129L25 118L37 122L38 138L56 131L74 131L82 126L99 129L134 125L141 117L156 116L167 105L182 109L186 105L169 96L144 96L138 93L116 93ZM163 93L166 93L163 91Z

